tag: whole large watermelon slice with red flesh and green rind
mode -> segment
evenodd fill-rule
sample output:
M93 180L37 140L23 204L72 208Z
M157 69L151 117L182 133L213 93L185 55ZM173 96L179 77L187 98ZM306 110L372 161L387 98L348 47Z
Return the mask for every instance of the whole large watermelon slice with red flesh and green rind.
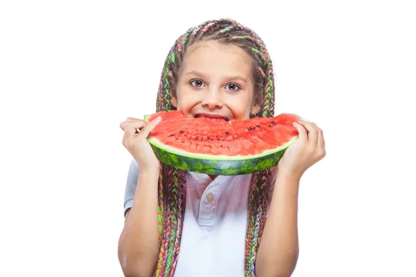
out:
M276 166L286 149L298 139L295 114L273 118L189 118L182 111L160 111L162 121L148 142L157 159L168 165L209 175L241 175Z

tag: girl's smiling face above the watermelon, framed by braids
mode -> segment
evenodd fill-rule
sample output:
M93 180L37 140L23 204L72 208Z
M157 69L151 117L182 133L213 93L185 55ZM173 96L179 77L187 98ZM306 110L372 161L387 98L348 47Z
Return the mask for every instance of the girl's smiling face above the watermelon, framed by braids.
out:
M250 118L259 111L251 64L238 46L194 44L184 57L172 104L190 117Z

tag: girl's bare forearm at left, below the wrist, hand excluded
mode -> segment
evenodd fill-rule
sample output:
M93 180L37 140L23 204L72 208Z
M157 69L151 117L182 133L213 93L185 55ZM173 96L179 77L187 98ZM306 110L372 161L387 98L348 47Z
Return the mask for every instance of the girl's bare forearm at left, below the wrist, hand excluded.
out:
M157 182L159 168L140 170L135 199L125 216L119 261L125 276L152 276L159 253Z

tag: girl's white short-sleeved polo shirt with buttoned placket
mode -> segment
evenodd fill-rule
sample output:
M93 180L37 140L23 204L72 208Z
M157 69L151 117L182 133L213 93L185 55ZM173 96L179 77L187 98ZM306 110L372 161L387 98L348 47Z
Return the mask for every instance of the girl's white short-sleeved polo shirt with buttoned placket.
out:
M272 188L277 167L272 168ZM124 211L131 208L139 168L130 165ZM187 203L175 277L244 276L245 230L251 174L187 172ZM270 203L270 202L269 202Z

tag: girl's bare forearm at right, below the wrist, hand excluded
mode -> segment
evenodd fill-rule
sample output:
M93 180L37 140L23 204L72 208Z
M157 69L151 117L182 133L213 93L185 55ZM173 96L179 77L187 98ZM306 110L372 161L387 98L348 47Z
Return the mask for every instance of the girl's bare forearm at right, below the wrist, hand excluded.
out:
M279 171L256 259L256 276L288 277L299 254L297 196L300 177Z

